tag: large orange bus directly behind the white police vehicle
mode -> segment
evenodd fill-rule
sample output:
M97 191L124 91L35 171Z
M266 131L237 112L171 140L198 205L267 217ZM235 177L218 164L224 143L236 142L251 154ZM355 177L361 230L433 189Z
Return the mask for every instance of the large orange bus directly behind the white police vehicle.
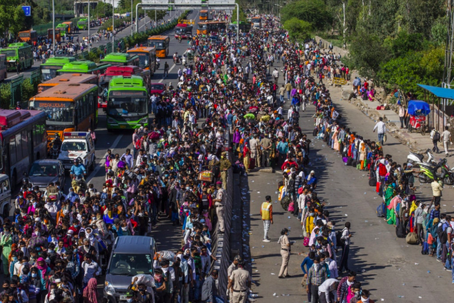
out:
M44 111L47 137L55 133L94 130L98 121L98 86L89 84L56 85L30 98L30 109Z

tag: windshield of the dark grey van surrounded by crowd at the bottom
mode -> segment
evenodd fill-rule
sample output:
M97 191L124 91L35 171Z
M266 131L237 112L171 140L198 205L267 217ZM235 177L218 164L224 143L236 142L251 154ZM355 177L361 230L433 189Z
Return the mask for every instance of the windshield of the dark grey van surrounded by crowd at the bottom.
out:
M149 274L153 259L149 254L114 254L109 265L109 273L118 276Z

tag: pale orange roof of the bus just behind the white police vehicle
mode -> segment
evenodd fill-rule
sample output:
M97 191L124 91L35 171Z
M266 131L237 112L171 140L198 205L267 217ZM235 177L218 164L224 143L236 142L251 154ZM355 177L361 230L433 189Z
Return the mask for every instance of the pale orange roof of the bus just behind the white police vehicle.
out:
M48 100L52 98L55 101L72 101L78 98L78 96L84 95L87 91L98 89L97 85L71 83L56 85L38 95L30 98L30 101L34 100Z

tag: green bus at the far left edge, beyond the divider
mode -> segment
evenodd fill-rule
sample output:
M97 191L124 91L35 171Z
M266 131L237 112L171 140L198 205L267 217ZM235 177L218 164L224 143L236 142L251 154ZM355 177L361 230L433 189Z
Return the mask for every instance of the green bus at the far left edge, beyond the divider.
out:
M16 61L19 61L21 71L33 65L32 45L26 42L11 43L8 47L0 49L0 54L6 55L8 71L17 70Z

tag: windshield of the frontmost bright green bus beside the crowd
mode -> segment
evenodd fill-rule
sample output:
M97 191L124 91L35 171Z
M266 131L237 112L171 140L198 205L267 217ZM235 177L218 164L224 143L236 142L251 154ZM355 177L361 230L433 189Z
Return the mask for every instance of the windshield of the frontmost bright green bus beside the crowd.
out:
M109 98L107 104L109 115L115 117L147 114L147 97Z

